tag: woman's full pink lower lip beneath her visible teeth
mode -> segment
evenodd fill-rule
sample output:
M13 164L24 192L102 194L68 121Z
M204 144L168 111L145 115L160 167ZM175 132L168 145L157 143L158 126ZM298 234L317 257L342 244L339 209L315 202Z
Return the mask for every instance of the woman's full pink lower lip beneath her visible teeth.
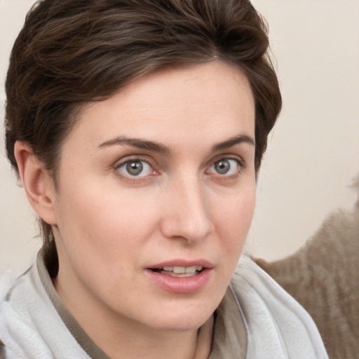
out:
M157 285L172 293L194 293L201 290L210 280L212 269L203 269L192 277L171 277L151 269L146 270L147 274Z

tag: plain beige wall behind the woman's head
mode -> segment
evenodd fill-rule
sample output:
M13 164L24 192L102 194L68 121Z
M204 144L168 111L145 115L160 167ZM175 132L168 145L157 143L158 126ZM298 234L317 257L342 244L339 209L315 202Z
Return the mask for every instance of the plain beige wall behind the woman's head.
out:
M359 1L255 0L270 25L284 107L257 192L250 248L283 257L325 215L350 207L359 172ZM0 101L8 55L31 0L0 0ZM1 152L4 154L1 128ZM0 268L23 267L39 247L34 215L0 158Z

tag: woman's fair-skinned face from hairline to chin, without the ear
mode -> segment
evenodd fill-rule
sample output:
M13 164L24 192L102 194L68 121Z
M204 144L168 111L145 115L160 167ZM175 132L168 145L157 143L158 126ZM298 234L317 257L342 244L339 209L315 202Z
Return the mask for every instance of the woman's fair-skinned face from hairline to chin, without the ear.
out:
M165 69L84 105L54 208L55 285L75 316L200 327L250 227L254 138L248 80L223 62Z

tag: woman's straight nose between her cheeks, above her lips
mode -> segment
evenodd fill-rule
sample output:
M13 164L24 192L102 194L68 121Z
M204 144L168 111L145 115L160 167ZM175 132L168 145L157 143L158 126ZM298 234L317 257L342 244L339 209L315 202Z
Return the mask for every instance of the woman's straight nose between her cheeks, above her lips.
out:
M208 191L198 178L178 179L165 191L161 229L167 238L188 243L205 240L213 230Z

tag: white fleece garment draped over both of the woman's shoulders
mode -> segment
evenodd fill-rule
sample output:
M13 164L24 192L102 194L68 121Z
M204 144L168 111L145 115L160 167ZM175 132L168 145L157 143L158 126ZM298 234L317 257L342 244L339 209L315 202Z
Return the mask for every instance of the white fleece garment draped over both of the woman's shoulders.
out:
M302 306L248 257L239 263L230 287L247 332L245 358L328 358ZM107 358L90 357L76 341L48 297L36 264L24 275L9 278L8 273L0 278L0 339L6 359Z

